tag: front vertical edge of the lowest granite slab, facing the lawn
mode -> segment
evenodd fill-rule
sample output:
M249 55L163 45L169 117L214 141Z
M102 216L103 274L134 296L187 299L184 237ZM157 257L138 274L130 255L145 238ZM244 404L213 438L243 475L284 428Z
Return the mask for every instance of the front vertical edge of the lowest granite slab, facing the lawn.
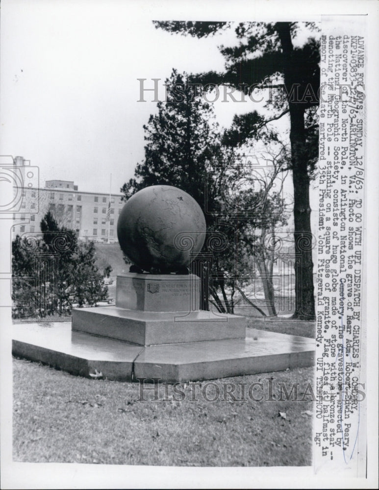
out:
M41 362L52 368L87 378L90 378L91 374L101 372L101 378L110 381L131 382L145 378L147 383L152 383L153 378L159 378L162 382L180 383L305 368L315 363L315 351L311 348L277 354L246 354L241 357L229 357L229 353L226 352L219 359L212 359L210 356L208 359L205 357L193 362L187 359L187 362L183 362L172 358L171 361L163 363L153 362L152 358L141 359L146 349L149 350L150 347L142 348L138 354L126 360L101 360L101 353L99 358L88 359L85 352L81 356L80 353L73 354L36 345L29 339L12 341L14 356Z

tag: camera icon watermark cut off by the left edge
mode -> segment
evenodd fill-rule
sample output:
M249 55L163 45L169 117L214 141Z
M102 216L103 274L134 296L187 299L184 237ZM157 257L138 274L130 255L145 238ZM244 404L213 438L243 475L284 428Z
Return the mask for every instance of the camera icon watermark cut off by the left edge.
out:
M0 155L0 213L37 213L39 168L21 156Z

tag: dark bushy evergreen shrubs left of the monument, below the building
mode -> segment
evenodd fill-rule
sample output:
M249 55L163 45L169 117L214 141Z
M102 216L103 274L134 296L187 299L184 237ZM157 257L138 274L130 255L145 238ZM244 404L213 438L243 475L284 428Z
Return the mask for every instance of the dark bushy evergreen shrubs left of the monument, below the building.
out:
M70 314L74 303L93 306L108 295L96 266L93 242L78 242L76 233L59 227L48 212L41 221L42 238L12 242L13 316L46 317Z

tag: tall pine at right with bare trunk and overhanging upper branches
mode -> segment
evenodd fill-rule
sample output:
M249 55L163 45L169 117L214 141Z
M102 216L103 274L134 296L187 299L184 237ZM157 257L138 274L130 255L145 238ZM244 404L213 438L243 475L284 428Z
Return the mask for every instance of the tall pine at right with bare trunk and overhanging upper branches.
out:
M304 25L315 27L310 23ZM171 33L202 38L229 28L232 23L157 21L155 26ZM283 99L274 97L271 118L264 118L253 111L234 122L241 129L237 136L241 140L246 136L259 136L258 130L267 122L289 115L296 255L294 318L312 320L315 318L315 306L309 180L317 159L315 109L319 104L320 54L319 43L315 39L308 39L301 48L294 46L299 29L299 23L290 22L238 24L235 27L236 37L240 40L238 45L220 48L226 59L225 72L194 75L192 81L204 87L228 85L246 95L251 95L257 87L279 88L285 95L284 104Z

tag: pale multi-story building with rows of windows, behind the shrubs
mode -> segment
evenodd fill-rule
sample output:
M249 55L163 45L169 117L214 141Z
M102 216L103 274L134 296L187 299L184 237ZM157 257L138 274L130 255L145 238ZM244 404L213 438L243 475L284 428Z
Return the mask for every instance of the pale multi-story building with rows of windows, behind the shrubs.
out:
M58 224L75 230L80 240L117 242L117 220L125 204L121 194L79 192L73 181L48 180L45 188L24 187L21 197L15 234L39 233L41 220L51 211Z

